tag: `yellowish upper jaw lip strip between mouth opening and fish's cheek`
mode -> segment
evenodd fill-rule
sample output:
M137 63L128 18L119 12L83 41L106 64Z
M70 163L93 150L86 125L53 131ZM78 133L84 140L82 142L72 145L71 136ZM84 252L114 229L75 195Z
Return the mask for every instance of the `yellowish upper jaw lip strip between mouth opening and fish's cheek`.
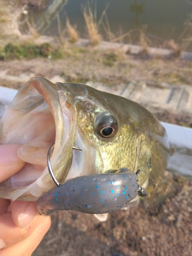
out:
M45 78L32 78L29 83L31 81L34 88L49 105L55 121L56 138L51 162L56 179L59 182L63 182L66 180L71 167L72 147L76 135L77 121L74 101L69 97L63 83L61 90L59 90L57 83L54 84ZM66 125L66 123L68 124ZM68 128L67 126L70 127Z

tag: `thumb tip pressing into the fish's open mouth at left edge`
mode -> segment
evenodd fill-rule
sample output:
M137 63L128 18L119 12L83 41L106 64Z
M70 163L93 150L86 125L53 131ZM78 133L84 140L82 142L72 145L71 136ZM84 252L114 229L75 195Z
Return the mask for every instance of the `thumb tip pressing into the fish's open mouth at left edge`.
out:
M25 162L17 156L19 144L0 145L0 182L17 173Z

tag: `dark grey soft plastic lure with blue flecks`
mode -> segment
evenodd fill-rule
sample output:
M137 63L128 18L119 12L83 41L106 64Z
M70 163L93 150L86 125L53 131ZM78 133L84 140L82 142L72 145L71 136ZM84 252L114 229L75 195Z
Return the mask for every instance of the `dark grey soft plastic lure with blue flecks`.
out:
M86 175L58 184L37 200L36 207L46 216L57 210L103 214L123 208L138 189L137 175L122 168L117 174Z

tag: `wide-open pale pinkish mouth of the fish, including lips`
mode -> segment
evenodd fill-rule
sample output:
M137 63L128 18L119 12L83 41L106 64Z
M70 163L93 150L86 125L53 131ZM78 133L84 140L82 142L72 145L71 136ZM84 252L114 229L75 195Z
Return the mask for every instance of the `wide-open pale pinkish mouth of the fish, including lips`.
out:
M62 84L63 86L63 84ZM66 180L73 158L77 117L72 97L45 78L32 78L6 106L0 121L0 144L22 144L17 151L24 167L0 184L0 196L36 200L55 184L47 168L47 152L56 179Z

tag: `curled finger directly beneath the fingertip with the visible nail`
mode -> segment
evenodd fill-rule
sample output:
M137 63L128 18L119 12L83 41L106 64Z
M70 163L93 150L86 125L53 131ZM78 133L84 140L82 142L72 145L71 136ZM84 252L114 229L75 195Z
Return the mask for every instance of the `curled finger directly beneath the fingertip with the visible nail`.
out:
M0 240L6 247L17 244L27 239L44 218L37 214L26 227L19 228L14 224L11 213L3 214L0 216Z

